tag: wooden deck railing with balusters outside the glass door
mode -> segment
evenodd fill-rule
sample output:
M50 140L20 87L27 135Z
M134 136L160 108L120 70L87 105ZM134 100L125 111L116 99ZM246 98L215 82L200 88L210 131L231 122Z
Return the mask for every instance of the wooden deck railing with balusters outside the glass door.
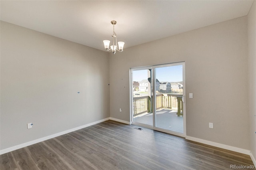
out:
M150 113L151 99L149 96L133 97L133 115L140 115L142 113ZM175 109L177 115L183 116L183 102L182 95L178 94L158 94L156 95L156 109Z

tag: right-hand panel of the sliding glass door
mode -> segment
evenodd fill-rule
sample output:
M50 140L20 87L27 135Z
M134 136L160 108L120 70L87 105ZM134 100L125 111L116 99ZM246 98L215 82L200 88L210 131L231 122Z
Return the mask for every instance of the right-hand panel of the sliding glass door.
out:
M156 127L183 133L183 65L155 68Z

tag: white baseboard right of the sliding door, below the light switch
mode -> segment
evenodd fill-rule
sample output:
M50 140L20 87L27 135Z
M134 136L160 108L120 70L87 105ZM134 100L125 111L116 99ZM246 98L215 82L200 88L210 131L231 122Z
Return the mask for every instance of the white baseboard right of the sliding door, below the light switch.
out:
M208 145L211 145L211 146L216 146L218 148L232 150L234 152L239 152L239 153L242 153L242 154L250 155L250 150L237 148L237 147L229 146L229 145L226 145L226 144L211 142L209 140L204 140L204 139L200 139L200 138L194 138L194 137L191 137L191 136L186 136L186 139L187 140L192 140L192 141L195 141L195 142L200 142L200 143L203 143L203 144L208 144Z

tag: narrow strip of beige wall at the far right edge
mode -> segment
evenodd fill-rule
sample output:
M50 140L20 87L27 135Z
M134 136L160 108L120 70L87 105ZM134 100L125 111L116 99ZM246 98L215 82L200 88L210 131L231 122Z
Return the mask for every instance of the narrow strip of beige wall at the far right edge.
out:
M256 158L256 1L248 14L250 150Z

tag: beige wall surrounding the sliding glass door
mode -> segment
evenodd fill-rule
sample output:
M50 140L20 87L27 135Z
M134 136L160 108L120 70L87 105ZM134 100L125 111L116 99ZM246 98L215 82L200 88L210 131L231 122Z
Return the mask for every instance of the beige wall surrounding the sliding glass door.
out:
M186 63L187 135L249 149L246 16L110 54L110 117L130 121L131 67L179 61Z

